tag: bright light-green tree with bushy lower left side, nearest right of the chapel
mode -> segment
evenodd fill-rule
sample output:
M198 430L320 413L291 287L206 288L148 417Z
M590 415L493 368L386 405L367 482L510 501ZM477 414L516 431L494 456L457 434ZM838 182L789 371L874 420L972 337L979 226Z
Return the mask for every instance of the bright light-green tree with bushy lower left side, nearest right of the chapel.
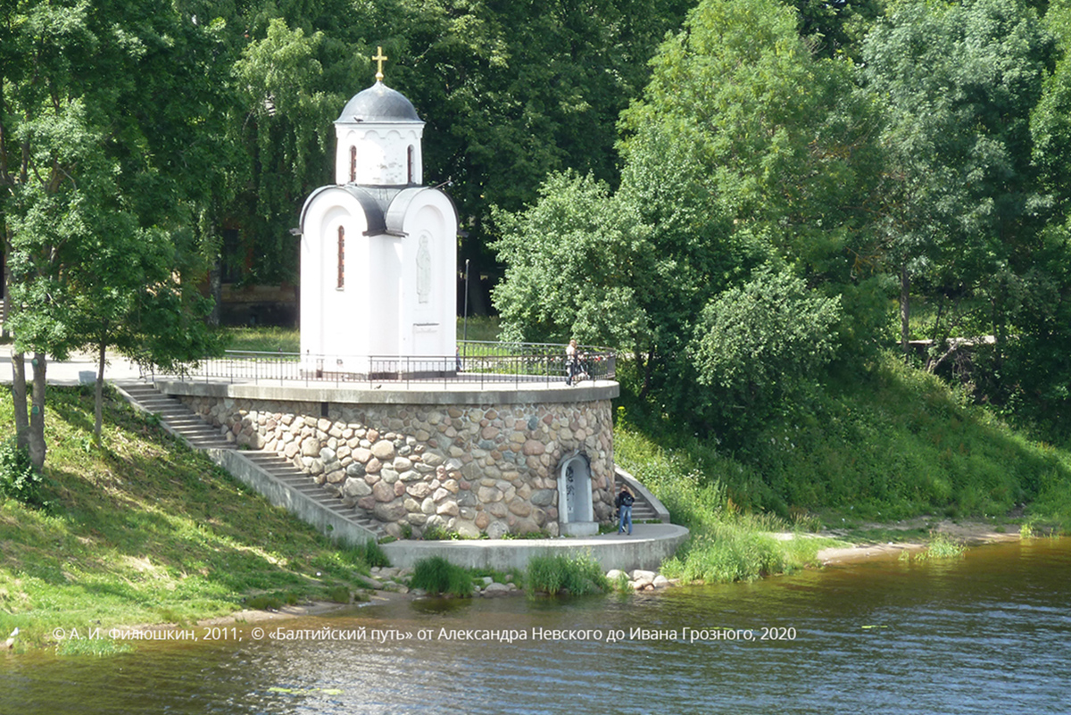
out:
M690 411L703 404L690 346L720 293L779 260L812 285L851 279L850 248L868 240L857 224L873 122L850 67L815 59L784 5L703 2L652 64L622 115L619 189L554 180L501 219L509 268L495 299L515 334L560 338L576 330L577 300L627 295L613 302L639 330L600 335L640 361L645 394Z

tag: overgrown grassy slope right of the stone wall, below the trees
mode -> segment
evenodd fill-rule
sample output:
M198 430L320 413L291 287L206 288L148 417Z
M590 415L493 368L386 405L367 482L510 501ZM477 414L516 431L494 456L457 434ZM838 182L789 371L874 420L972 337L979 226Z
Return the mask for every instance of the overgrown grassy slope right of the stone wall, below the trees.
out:
M716 580L790 569L816 545L779 546L763 532L821 521L937 514L1071 527L1068 450L1031 441L892 358L840 384L735 455L623 396L616 461L695 534L672 567Z

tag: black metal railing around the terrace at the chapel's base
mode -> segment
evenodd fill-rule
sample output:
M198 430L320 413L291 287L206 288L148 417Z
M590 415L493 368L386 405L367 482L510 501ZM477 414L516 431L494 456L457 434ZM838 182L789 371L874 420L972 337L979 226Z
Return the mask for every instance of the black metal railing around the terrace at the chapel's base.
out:
M228 350L221 358L206 358L196 366L170 374L186 382L297 382L337 386L375 386L382 383L456 383L493 386L503 384L565 383L613 380L617 356L606 348L579 347L570 363L565 346L541 343L458 341L457 354L316 355Z

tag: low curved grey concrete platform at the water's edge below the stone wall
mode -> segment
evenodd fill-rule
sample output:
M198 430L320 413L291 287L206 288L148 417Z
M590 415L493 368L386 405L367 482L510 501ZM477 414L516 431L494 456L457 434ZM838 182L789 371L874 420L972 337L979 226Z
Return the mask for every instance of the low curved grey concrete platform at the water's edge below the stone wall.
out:
M442 557L466 568L525 568L537 556L590 556L603 571L655 569L688 538L688 529L672 523L637 523L632 535L603 534L573 538L509 538L383 544L394 566L412 566L421 559Z

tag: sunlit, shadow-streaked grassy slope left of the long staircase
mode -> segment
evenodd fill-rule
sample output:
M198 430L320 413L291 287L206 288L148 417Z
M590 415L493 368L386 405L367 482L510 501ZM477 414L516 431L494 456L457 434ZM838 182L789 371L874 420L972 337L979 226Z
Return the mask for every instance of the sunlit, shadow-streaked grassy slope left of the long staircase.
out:
M338 551L122 400L94 447L90 390L49 389L48 513L0 505L0 634L27 644L54 627L190 622L272 593L291 602L359 587ZM14 432L0 402L0 435ZM340 588L341 587L341 588Z

